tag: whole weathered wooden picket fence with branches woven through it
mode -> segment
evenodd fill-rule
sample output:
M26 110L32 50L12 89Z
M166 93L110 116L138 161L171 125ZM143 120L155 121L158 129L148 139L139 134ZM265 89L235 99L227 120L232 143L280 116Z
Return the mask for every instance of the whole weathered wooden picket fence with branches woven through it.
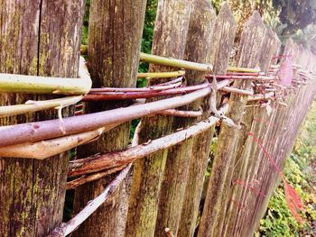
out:
M165 58L140 54L146 1L95 0L90 90L79 67L84 2L0 4L0 235L252 236L316 94L315 55L291 39L282 47L255 12L232 58L237 23L227 3L217 15L207 0L158 1L152 53ZM135 89L139 59L152 62L144 89ZM34 89L44 80L51 90ZM68 81L82 85L75 93ZM61 114L82 98L84 115ZM49 105L14 106L30 99ZM24 113L52 101L59 113ZM62 223L66 189L74 214Z

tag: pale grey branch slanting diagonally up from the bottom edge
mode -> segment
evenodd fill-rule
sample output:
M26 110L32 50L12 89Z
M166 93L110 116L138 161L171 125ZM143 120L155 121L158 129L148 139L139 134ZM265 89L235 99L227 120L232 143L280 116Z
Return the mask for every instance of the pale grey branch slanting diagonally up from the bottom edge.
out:
M61 223L49 236L63 237L69 235L70 232L75 231L81 223L86 221L88 217L98 209L100 205L107 201L107 198L109 198L111 194L116 192L116 189L126 178L130 169L131 166L123 169L98 197L88 202L88 205L86 205L79 214L76 214L68 223Z

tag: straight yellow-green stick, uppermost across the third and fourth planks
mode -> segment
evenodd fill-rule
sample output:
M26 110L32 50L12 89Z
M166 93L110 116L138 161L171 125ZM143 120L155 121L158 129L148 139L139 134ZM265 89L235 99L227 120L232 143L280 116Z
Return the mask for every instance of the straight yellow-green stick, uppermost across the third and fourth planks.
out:
M141 52L140 60L181 69L190 69L198 71L211 71L213 69L213 66L211 64L202 64L181 59L166 58L144 52Z

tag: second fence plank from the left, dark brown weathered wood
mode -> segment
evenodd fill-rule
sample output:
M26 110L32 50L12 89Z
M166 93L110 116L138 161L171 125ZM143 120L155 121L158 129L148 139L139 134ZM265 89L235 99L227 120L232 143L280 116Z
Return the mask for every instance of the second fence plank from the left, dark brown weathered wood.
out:
M140 43L144 26L145 0L91 2L88 34L88 69L93 87L135 87ZM86 112L128 105L127 102L87 104ZM130 123L123 123L87 146L78 149L84 158L98 152L124 150L129 141ZM115 174L85 184L75 190L75 211L98 196ZM127 214L130 178L97 212L83 223L74 236L123 236Z

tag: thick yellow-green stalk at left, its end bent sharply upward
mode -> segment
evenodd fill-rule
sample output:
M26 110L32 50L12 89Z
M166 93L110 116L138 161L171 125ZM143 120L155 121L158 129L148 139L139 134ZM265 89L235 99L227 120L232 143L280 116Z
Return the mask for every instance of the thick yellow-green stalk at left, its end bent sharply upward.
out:
M79 78L0 73L0 93L85 95L91 86L91 78L82 57L79 64Z

